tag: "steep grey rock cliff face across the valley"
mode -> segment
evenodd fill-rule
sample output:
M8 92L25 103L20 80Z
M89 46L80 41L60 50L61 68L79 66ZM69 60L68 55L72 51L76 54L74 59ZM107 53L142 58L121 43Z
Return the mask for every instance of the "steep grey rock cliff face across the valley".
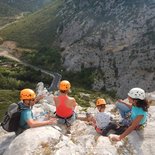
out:
M92 88L117 90L120 97L132 87L153 91L153 0L66 0L58 16L66 70L94 68Z

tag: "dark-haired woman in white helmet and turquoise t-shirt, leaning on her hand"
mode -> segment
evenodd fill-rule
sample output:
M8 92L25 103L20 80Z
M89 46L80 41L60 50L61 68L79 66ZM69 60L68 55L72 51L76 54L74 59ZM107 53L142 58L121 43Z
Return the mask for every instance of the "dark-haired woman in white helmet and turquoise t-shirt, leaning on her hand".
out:
M130 123L124 124L124 129L119 135L111 134L109 138L113 141L120 141L129 135L133 130L143 128L147 122L148 116L148 102L145 98L145 91L141 88L132 88L128 93L128 100L131 106L126 105L124 102L116 103L116 107L119 109L120 114L124 120L126 116L124 114L130 112Z

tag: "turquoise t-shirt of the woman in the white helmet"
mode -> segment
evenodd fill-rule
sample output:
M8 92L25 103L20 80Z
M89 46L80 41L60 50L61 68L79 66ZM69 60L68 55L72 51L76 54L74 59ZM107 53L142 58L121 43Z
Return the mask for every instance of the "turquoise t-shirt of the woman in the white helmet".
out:
M131 119L134 120L139 115L143 115L144 116L142 118L142 120L140 121L139 124L141 125L141 124L146 123L146 120L147 120L147 112L144 111L140 107L132 106L132 109L131 109Z

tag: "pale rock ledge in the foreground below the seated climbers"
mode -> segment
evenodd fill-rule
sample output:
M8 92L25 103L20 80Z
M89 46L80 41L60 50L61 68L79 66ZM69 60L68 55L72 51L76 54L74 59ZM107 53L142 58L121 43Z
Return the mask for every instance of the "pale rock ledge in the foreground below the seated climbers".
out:
M110 109L111 106L108 106L107 110ZM154 114L155 106L151 106L145 129L133 131L120 142L100 136L92 126L80 120L73 124L70 134L66 133L65 126L57 125L28 129L17 137L0 129L0 154L155 155Z

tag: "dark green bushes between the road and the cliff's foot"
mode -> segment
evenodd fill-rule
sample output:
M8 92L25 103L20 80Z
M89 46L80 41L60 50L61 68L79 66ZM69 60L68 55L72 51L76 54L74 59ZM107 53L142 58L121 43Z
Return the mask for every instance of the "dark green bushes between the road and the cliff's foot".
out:
M63 79L68 79L75 87L91 89L94 82L94 68L83 68L80 72L66 71L61 64L60 50L57 48L41 48L38 52L24 52L22 59L42 69L58 72Z

